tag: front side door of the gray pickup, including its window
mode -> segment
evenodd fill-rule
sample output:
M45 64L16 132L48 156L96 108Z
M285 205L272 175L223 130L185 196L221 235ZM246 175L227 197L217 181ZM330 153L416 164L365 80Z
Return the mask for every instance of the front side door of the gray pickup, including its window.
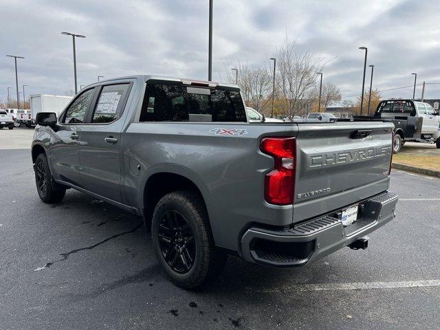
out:
M50 162L55 179L82 186L79 168L79 138L86 113L94 96L94 88L76 96L58 118L50 144Z

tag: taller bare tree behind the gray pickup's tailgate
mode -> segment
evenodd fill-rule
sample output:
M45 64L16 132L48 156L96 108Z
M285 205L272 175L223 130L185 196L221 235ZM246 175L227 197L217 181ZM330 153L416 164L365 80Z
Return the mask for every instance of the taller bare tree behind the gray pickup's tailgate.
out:
M320 59L311 51L296 50L296 41L286 39L276 51L278 97L285 115L305 115L313 105L312 91L316 72L322 69Z

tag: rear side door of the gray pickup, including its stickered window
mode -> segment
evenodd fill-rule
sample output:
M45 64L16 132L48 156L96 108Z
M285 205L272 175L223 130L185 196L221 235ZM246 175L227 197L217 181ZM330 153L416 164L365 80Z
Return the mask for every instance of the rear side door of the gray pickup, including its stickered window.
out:
M80 177L84 187L102 197L122 201L120 144L129 83L103 85L98 101L81 127Z

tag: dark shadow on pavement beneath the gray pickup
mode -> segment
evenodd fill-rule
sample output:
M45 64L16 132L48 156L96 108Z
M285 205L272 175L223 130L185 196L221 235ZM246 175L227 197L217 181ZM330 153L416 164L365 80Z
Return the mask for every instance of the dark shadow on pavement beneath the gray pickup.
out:
M125 255L123 258L126 258L126 261L130 261L130 259L137 261L134 272L129 272L129 270L133 270L130 263L126 266L126 272L124 272L122 277L115 281L102 283L102 287L92 290L87 294L79 294L75 300L96 297L110 290L120 289L125 285L132 284L142 285L142 283L148 283L148 285L152 286L153 283L160 282L165 285L174 286L173 283L168 281L157 263L151 245L151 236L149 233L146 233L144 223L140 217L126 213L110 204L80 192L74 190L67 191L63 203L54 204L50 208L75 210L75 216L71 219L71 225L82 228L85 235L93 234L97 236L99 234L102 238L96 239L96 242L91 245L72 242L76 246L72 247L72 250L60 252L60 258L48 263L47 267L55 267L56 263L67 261L73 254L81 254L96 248L100 248L97 253L102 254L104 252L105 254L105 245L110 243L113 245L113 254L118 252L122 256ZM111 256L106 257L107 261L111 260ZM120 258L120 256L115 257ZM111 267L109 272L111 272ZM230 256L223 274L217 281L212 281L205 285L201 291L206 294L229 293L236 296L237 290L244 294L246 287L258 287L261 283L264 283L267 287L283 285L286 277L296 278L298 276L303 280L320 281L324 273L327 273L325 278L329 275L331 276L329 274L329 267L323 264L283 270L248 263L239 257ZM338 274L333 274L333 276L338 277ZM178 287L176 289L181 290ZM252 300L251 297L248 298Z

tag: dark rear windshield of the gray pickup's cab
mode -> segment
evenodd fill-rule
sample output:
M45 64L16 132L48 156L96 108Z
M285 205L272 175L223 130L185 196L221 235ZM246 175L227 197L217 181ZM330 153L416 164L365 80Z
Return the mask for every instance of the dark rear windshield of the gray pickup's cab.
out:
M239 91L146 85L140 122L246 122Z

